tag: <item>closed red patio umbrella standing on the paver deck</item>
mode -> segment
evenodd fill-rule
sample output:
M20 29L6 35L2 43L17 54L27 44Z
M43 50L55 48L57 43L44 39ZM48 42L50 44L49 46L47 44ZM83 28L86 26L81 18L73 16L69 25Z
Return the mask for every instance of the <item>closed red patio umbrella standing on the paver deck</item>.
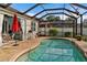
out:
M17 33L18 31L20 31L20 25L19 25L19 21L18 21L17 14L14 14L13 23L12 23L12 32Z

